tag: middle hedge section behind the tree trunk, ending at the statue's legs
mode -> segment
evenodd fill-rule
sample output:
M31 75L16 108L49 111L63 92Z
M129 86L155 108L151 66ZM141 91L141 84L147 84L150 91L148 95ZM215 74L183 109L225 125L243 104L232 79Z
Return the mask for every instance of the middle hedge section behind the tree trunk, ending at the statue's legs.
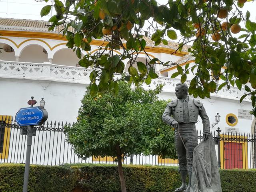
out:
M120 192L117 166L71 166L83 192ZM172 192L180 186L177 167L123 166L128 192Z

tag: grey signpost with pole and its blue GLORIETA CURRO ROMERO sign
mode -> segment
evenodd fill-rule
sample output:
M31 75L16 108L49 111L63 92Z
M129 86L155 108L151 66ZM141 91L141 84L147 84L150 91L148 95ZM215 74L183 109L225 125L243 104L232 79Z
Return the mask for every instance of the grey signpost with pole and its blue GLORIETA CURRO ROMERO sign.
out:
M26 163L24 172L24 182L23 182L23 192L28 191L28 176L29 176L29 165L30 165L30 154L32 145L32 136L36 135L34 126L42 125L48 118L48 112L44 109L45 101L42 98L40 101L40 106L34 107L36 100L31 97L28 101L30 107L21 108L16 116L15 121L20 126L27 126L27 131L23 131L21 134L27 135L27 151L26 151Z

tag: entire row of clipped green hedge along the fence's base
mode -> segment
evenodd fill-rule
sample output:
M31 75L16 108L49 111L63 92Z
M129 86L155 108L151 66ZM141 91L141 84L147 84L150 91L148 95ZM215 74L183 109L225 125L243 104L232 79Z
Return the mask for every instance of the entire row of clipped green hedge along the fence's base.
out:
M21 192L24 168L0 164L0 191ZM123 170L127 192L173 192L181 184L177 167L127 165ZM222 192L256 192L256 170L220 170L220 178ZM116 165L32 165L28 191L120 192L121 187Z

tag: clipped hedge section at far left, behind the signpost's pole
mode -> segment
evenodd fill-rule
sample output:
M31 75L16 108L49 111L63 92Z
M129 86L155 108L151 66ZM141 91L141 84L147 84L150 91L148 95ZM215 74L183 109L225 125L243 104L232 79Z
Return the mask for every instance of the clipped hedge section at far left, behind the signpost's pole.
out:
M24 164L0 164L0 191L22 192ZM70 192L76 184L76 175L62 166L31 165L29 192Z

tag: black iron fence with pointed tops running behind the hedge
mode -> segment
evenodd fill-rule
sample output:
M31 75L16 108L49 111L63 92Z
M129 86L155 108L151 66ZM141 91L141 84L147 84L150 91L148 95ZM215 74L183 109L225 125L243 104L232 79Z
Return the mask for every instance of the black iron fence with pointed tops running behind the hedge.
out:
M74 154L72 146L66 142L64 126L70 122L47 122L35 126L32 139L30 164L58 165L65 163L116 163L111 157L90 157L86 160ZM256 168L256 138L254 134L214 132L216 155L221 168ZM26 127L13 122L11 116L0 116L0 163L25 163ZM203 139L198 133L198 142ZM150 164L178 166L178 160L160 156L132 155L123 160L124 164Z

